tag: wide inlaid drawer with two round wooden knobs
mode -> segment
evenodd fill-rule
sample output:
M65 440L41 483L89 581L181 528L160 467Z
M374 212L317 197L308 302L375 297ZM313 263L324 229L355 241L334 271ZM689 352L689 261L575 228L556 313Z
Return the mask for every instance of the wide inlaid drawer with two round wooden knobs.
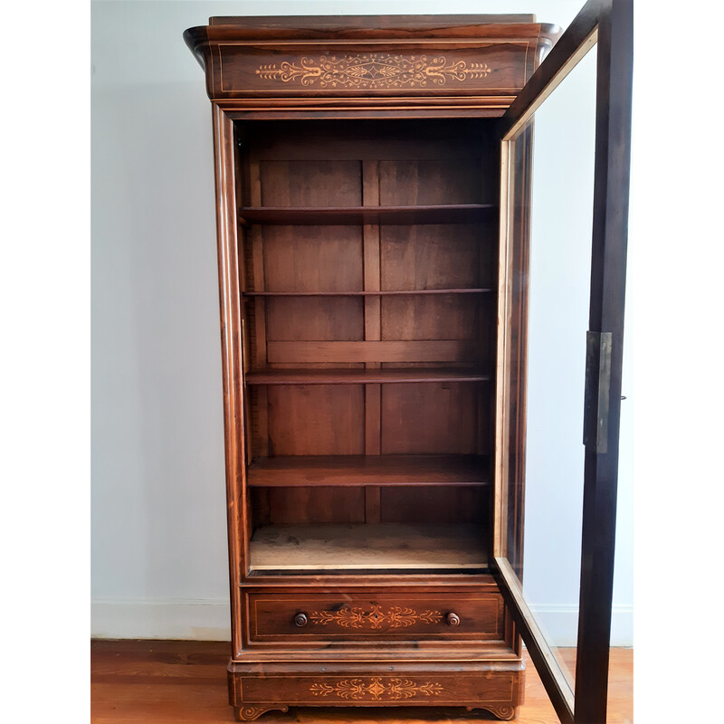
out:
M247 595L250 642L503 638L499 593Z

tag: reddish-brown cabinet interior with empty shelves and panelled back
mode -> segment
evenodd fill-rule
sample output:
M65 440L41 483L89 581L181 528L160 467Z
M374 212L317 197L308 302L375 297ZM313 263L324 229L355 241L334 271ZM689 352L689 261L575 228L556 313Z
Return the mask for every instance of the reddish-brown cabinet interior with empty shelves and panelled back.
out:
M487 569L493 123L235 121L252 575Z

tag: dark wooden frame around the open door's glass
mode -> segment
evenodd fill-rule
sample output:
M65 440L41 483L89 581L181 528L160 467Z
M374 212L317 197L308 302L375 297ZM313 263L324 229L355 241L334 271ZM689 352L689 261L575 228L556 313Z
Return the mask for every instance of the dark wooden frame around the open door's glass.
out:
M575 697L522 595L519 576L505 549L506 511L496 517L493 573L513 619L529 648L548 696L563 724L605 724L608 659L614 584L614 542L618 436L623 367L625 261L631 155L631 96L633 85L633 0L589 0L541 63L510 109L500 119L501 248L500 263L509 249L505 215L508 211L509 145L538 106L568 71L597 42L595 181L592 233L589 336L610 338L610 368L603 381L601 357L586 364L587 427L585 452L581 587L578 619ZM506 318L508 298L501 277L500 319ZM501 329L505 329L505 325ZM522 333L522 332L521 332ZM499 375L505 374L508 342L499 348ZM589 369L590 367L590 369ZM496 487L503 504L505 470L506 380L499 379ZM522 484L520 485L522 497ZM522 500L521 500L522 502ZM522 505L519 515L522 515Z

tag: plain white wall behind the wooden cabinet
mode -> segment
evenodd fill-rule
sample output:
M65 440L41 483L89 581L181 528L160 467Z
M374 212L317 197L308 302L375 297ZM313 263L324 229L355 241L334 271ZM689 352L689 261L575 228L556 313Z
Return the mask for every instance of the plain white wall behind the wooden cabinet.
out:
M481 0L443 10L532 11L565 25L579 2ZM93 635L228 636L211 111L181 33L214 14L440 10L427 0L92 3ZM630 388L624 394L631 400ZM626 619L615 643L627 644L625 414L622 434L614 604ZM538 510L544 523L556 514ZM564 618L570 608L555 589L533 603Z

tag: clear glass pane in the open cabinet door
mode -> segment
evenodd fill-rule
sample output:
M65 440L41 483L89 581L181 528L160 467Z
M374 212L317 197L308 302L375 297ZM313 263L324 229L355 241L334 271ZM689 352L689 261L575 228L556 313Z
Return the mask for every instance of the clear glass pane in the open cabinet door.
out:
M535 114L523 592L573 688L581 566L595 52Z

